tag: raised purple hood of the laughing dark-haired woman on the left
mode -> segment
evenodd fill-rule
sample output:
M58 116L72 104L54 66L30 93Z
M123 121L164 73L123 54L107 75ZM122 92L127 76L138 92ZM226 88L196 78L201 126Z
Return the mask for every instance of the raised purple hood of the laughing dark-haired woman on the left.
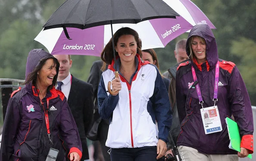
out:
M43 49L32 49L28 53L25 80L28 79L28 74L31 73L34 70L34 68L37 67L37 65L39 65L41 60L50 59L50 58L56 59L53 55L51 55L50 53L47 53ZM57 68L56 70L57 70L56 71L57 74L55 75L55 77L58 77L59 68ZM26 87L29 89L31 88L31 86L32 86L32 82L29 82L29 84L26 84Z

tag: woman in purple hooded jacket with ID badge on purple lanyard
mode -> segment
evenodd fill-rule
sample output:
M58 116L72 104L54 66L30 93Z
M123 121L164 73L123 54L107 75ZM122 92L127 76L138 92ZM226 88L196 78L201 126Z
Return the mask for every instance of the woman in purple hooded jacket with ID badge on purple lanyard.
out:
M238 157L253 153L253 114L247 89L235 64L219 59L215 37L208 25L191 29L186 51L191 62L179 65L176 75L181 121L177 145L181 158L238 161ZM242 138L238 153L228 148L225 118L232 115Z

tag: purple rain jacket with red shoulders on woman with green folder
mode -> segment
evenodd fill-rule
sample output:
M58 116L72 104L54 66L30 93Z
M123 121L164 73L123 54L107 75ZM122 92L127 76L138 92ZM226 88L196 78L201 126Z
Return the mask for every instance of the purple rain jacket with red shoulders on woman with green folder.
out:
M188 146L197 149L203 154L237 154L228 148L229 137L225 118L234 116L240 129L242 138L241 147L253 153L253 113L244 81L233 62L219 59L215 37L208 25L196 25L191 29L186 44L189 56L189 38L200 36L206 40L206 59L203 64L197 60L182 63L176 75L176 100L178 114L181 121L181 130L178 137L178 146ZM218 105L222 123L222 131L205 134L203 121L200 114L199 99L196 88L189 91L189 83L194 82L191 65L195 68L197 81L203 97L203 107L213 106L215 81L215 65L219 61L219 88ZM186 102L187 97L187 102ZM186 105L185 105L186 104ZM186 109L187 111L186 111ZM187 112L187 113L186 113Z

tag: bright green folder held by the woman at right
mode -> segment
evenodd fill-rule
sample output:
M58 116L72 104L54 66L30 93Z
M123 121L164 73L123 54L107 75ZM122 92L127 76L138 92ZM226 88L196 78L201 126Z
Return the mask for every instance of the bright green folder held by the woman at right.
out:
M228 136L230 139L230 143L228 147L230 149L236 150L237 152L240 152L241 138L240 138L237 123L231 120L230 118L226 118L225 120L228 127ZM247 157L251 159L252 155L249 154Z

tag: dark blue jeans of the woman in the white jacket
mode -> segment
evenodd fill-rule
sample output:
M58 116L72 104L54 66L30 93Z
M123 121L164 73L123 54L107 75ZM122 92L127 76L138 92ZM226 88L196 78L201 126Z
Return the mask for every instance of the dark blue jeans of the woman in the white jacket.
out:
M156 146L111 149L111 161L156 161Z

